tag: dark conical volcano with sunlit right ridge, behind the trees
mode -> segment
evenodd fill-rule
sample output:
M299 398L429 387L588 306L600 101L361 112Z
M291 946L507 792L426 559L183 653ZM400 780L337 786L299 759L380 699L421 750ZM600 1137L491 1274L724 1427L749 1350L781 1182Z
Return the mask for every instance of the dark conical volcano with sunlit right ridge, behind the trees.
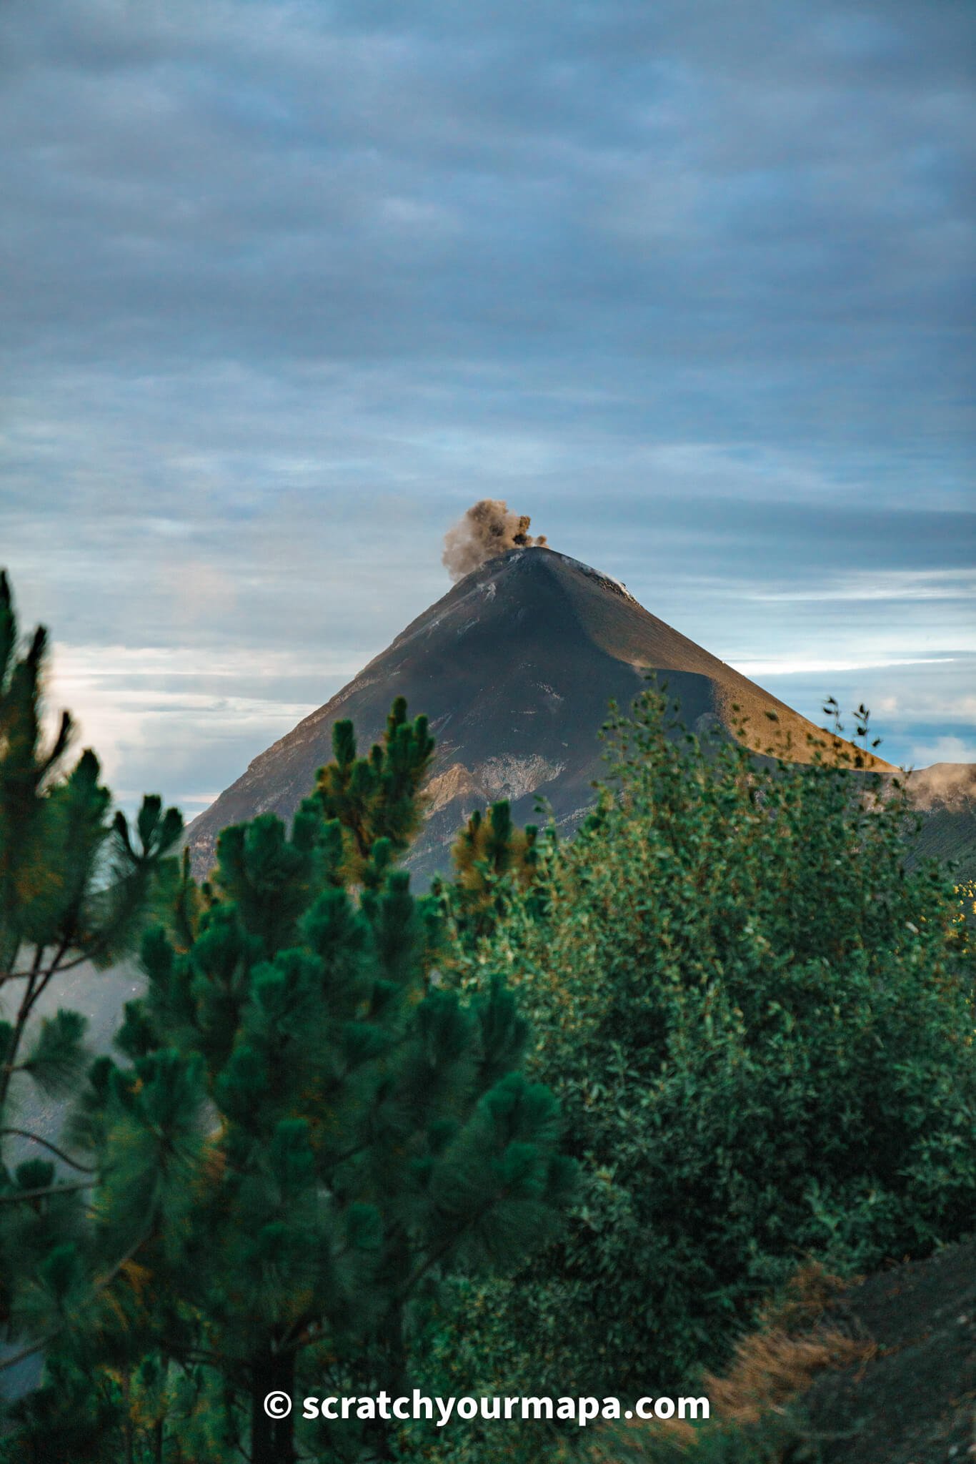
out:
M256 757L189 829L193 868L215 859L221 829L274 811L290 818L332 757L332 728L350 717L360 751L376 741L397 695L430 719L438 741L427 821L408 867L445 868L474 808L508 798L533 821L543 796L571 832L603 772L598 731L613 698L628 707L648 672L667 682L688 728L732 731L762 750L789 735L809 757L821 732L776 697L648 613L616 580L552 549L489 559L424 610L347 687ZM737 706L736 713L733 707ZM768 720L776 712L778 722ZM888 764L878 763L887 769Z

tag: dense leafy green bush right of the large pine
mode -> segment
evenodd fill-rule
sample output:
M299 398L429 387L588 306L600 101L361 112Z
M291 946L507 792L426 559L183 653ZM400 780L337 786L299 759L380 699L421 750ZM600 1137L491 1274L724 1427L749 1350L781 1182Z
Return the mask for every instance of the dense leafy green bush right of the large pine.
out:
M976 1214L973 950L906 865L897 780L837 736L758 763L673 716L648 691L616 717L577 839L496 886L487 935L458 922L455 978L518 982L584 1174L562 1243L465 1288L445 1366L486 1386L677 1388L799 1259L920 1255Z

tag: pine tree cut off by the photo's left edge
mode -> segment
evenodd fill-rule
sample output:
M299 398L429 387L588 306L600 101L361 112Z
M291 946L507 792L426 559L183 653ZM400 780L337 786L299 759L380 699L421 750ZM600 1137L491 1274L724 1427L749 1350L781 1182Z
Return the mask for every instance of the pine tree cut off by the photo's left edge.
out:
M0 1328L13 1344L0 1366L38 1351L111 1271L85 1224L94 1168L25 1127L18 1107L34 1085L63 1097L85 1063L85 1019L59 1009L37 1019L57 976L89 960L107 966L132 947L176 875L174 810L146 798L135 837L110 818L94 752L66 770L67 713L50 745L41 692L47 632L20 653L13 597L0 574ZM16 1142L34 1157L9 1167ZM56 1164L73 1171L57 1179Z

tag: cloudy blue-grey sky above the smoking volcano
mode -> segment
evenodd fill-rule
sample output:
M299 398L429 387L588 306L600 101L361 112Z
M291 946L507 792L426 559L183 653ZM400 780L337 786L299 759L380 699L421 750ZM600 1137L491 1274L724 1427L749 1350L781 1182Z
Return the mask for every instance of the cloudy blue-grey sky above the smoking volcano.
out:
M120 802L199 813L481 496L976 761L975 61L957 0L4 0L0 564Z

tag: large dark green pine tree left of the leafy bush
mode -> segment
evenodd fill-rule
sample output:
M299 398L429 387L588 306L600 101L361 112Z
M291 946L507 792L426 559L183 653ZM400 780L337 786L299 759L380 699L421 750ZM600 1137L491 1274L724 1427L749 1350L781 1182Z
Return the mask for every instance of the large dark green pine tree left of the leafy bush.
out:
M202 896L184 870L179 918L142 946L129 1066L95 1064L72 1129L98 1167L100 1252L127 1258L114 1360L157 1369L157 1394L179 1382L190 1416L205 1397L214 1458L234 1441L253 1464L296 1458L294 1413L263 1400L303 1379L402 1394L440 1280L511 1268L559 1224L572 1165L521 1072L512 994L432 979L440 905L395 868L432 747L402 701L366 758L339 725L290 833L268 814L227 829ZM66 1366L91 1335L88 1318L66 1337ZM394 1457L382 1420L328 1427L316 1451Z

